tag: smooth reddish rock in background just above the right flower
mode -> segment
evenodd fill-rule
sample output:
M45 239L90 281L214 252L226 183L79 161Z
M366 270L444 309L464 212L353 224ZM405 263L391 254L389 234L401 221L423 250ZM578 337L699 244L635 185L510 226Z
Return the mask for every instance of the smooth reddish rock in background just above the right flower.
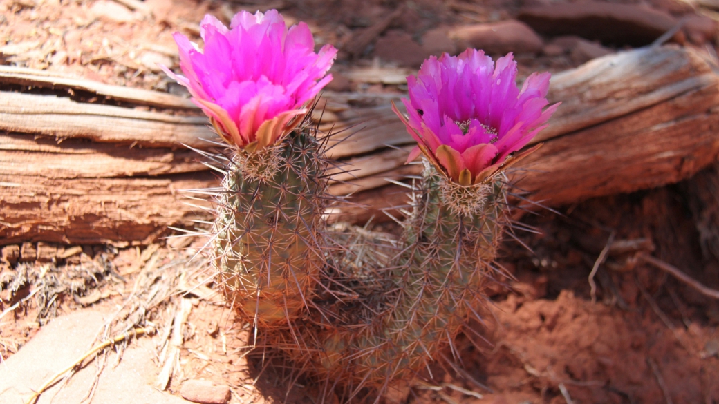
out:
M513 19L492 24L465 25L452 29L449 36L454 39L460 52L475 47L489 54L539 53L542 40L530 27Z

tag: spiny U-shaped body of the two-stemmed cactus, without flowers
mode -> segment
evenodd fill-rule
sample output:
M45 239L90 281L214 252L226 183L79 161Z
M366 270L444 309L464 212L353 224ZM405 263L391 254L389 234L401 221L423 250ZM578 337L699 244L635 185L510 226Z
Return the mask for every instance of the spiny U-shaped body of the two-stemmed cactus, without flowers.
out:
M271 165L232 159L218 196L214 263L226 299L265 346L330 387L383 390L422 372L468 316L479 317L507 220L505 192L497 181L480 211L457 211L443 194L446 179L426 165L403 238L328 229L326 139L313 132L297 129L267 150L277 157ZM256 175L257 167L274 171Z

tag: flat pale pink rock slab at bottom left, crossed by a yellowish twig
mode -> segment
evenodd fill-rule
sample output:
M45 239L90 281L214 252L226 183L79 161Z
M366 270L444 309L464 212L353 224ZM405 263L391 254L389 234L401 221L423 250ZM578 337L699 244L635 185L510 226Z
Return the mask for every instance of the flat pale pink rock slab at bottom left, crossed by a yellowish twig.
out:
M97 311L75 311L53 319L12 357L0 365L0 403L24 403L61 369L75 362L93 346L111 316ZM188 404L181 398L155 390L150 383L157 369L152 362L155 345L145 336L134 339L122 360L111 353L101 373L93 404L127 403ZM96 366L79 369L68 382L46 390L37 404L82 403L96 380ZM122 398L122 400L120 399Z

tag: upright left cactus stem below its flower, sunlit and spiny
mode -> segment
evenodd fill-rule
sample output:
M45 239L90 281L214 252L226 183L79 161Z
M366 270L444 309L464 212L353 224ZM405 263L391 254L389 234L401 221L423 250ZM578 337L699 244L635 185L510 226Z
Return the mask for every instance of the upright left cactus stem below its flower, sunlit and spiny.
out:
M265 149L239 150L219 193L214 265L226 300L260 329L287 325L313 297L324 259L326 181L308 129Z

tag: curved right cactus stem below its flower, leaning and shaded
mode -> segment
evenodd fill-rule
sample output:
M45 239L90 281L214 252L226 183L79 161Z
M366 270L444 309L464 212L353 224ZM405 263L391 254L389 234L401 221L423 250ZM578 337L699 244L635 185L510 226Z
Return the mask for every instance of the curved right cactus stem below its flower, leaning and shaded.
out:
M365 282L381 279L383 288L360 296L360 304L326 304L326 313L317 318L321 326L303 330L304 339L319 346L294 350L293 356L312 362L319 377L354 387L382 387L411 377L452 343L468 316L477 314L505 221L505 194L499 181L480 185L475 190L485 193L480 210L466 214L443 195L444 180L426 167L400 252L384 267L365 268L375 277ZM356 278L349 288L363 289L357 286L362 279L348 268L336 271L340 279ZM364 321L352 323L357 321L352 311L367 312ZM332 317L352 321L322 320Z

